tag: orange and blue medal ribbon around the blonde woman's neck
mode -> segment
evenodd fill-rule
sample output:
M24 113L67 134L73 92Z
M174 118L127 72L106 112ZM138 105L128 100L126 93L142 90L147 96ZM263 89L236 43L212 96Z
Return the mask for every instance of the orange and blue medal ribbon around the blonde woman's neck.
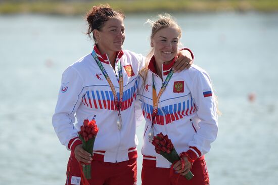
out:
M168 82L170 81L172 75L174 74L174 71L171 69L169 74L167 75L165 81L162 84L162 87L160 89L160 91L158 92L158 95L156 96L156 89L155 89L155 83L154 83L154 74L153 74L153 114L152 114L152 127L154 127L154 120L155 120L155 116L157 114L157 107L158 107L158 102L159 99L162 95L162 93L164 92Z

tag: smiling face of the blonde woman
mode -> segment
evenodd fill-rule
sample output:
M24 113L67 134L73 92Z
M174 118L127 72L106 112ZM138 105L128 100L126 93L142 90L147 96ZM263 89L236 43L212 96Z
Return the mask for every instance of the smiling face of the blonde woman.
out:
M180 33L177 28L162 28L151 39L156 63L170 62L177 55Z

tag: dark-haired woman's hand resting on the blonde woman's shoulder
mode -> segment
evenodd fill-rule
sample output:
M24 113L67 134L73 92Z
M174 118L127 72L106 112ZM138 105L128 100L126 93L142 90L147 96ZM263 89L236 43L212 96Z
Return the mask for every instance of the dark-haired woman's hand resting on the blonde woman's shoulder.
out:
M177 60L173 66L174 72L180 72L183 69L188 69L193 64L191 53L188 50L182 50L177 54Z

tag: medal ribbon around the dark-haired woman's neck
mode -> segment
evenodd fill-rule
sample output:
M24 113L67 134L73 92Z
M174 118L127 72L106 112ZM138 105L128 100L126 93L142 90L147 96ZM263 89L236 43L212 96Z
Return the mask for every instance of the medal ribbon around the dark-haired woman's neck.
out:
M121 107L122 107L122 100L123 100L123 73L122 73L122 65L121 65L121 62L118 61L118 70L119 70L119 86L120 86L120 100L118 101L118 96L117 96L117 92L115 90L115 87L110 79L110 77L108 76L106 70L104 69L101 61L99 60L95 50L92 50L91 52L91 55L92 57L94 57L95 61L97 62L100 70L102 71L105 79L107 80L107 82L109 83L110 85L110 88L112 90L112 93L113 93L113 96L114 96L114 99L115 99L115 103L116 103L116 106L119 110L119 115L120 115L120 110L121 110Z

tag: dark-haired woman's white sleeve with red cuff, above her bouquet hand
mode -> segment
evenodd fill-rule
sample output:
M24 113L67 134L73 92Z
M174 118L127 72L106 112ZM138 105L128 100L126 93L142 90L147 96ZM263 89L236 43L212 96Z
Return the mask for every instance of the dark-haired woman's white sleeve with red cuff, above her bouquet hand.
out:
M68 150L81 144L74 126L75 112L81 102L83 80L79 73L72 67L67 68L62 75L62 84L58 95L52 125L62 145Z

